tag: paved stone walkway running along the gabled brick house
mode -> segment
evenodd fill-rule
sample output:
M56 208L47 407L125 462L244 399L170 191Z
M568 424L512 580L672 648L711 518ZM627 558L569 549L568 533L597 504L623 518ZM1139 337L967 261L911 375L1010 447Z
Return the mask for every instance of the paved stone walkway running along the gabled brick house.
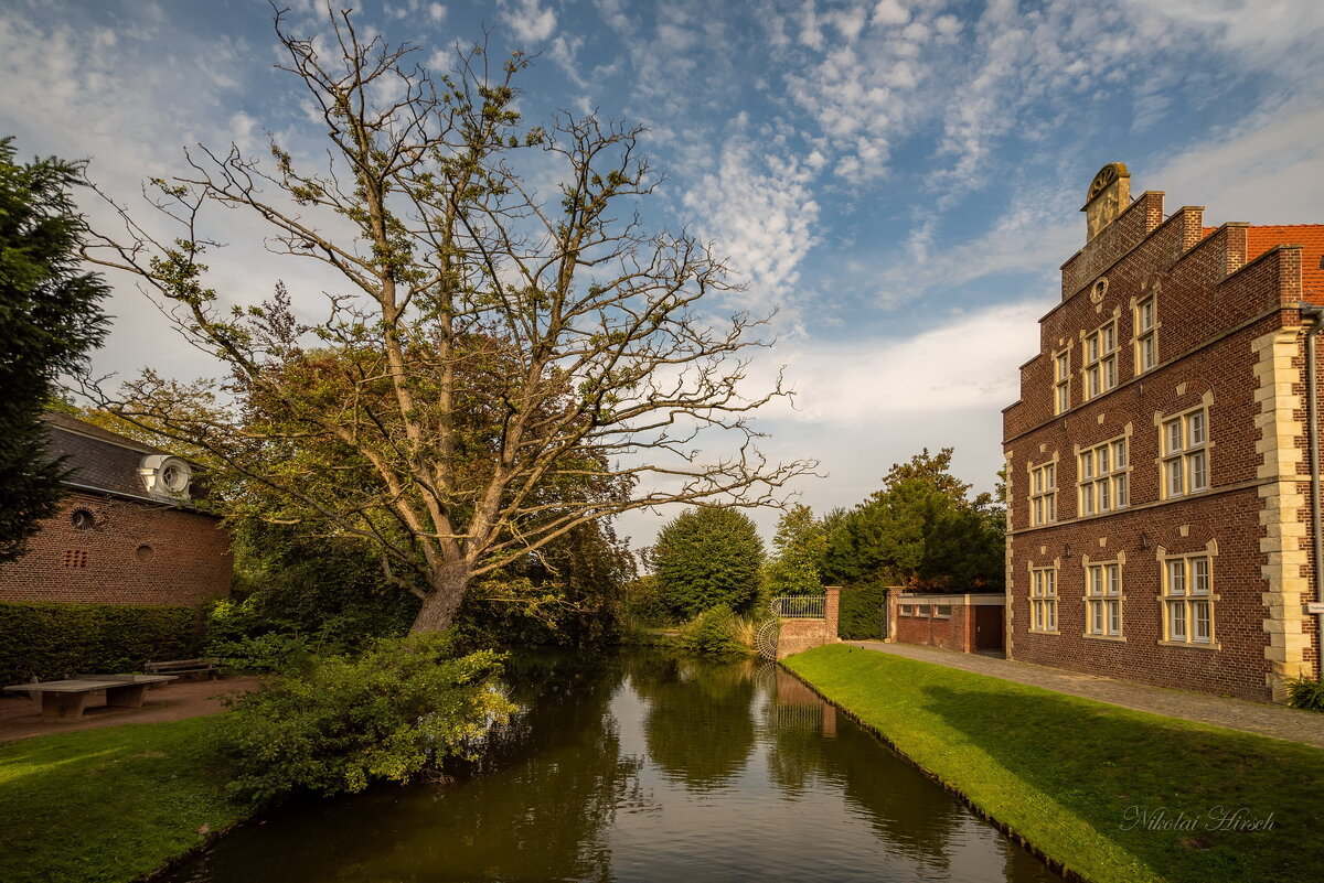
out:
M1227 699L1205 693L1188 693L1169 687L1152 687L1131 681L1113 681L1094 674L1080 674L1050 669L1030 662L1009 662L988 656L955 653L935 646L915 644L884 644L883 641L845 641L853 646L879 653L891 653L907 660L945 665L953 669L988 674L1004 681L1029 683L1046 690L1110 702L1137 711L1152 711L1215 727L1242 730L1262 736L1275 736L1291 742L1324 748L1324 714L1300 711L1263 702Z

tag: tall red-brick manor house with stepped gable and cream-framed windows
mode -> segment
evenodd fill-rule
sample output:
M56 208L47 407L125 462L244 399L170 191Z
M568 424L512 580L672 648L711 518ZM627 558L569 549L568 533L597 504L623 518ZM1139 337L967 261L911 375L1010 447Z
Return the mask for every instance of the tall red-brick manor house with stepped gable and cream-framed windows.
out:
M1162 198L1095 176L1004 411L1006 652L1283 701L1320 674L1324 225L1205 227Z

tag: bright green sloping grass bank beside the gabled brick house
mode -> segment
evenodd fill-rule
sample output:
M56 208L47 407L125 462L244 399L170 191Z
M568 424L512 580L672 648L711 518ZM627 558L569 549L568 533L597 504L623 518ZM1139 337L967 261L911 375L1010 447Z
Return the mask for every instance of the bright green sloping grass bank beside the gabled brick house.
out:
M1324 749L842 645L785 665L1096 883L1324 879ZM1272 827L1214 830L1241 808Z

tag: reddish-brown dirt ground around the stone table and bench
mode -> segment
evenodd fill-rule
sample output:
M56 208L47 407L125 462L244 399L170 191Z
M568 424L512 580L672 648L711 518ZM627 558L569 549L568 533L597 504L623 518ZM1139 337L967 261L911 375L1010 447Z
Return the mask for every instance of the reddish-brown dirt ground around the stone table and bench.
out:
M123 723L160 723L225 711L220 697L257 689L257 678L224 678L221 681L175 681L147 691L142 709L111 709L95 695L89 699L83 716L77 720L48 720L41 716L41 701L5 693L0 695L0 742L73 732Z

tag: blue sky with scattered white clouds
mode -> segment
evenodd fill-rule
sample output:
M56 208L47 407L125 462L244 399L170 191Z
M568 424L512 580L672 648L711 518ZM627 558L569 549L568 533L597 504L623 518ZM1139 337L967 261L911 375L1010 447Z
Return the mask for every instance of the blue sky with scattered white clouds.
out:
M291 29L320 29L316 4L287 5ZM1166 192L1169 211L1205 206L1206 223L1324 222L1319 0L400 0L355 19L436 70L485 38L493 58L536 56L528 119L646 127L666 173L647 222L728 256L745 286L715 313L775 312L777 342L751 370L784 366L796 397L756 426L771 459L820 461L792 488L818 513L925 447L955 447L957 476L993 488L1001 410L1104 164L1125 163L1136 194ZM315 147L278 61L267 3L8 0L0 135L20 157L90 160L132 204L146 178L185 171L185 145L262 153L275 132ZM263 252L242 218L217 223L222 297L256 303L277 279L297 305L316 296L324 280ZM109 280L98 371L220 374ZM647 546L675 514L618 531ZM776 517L756 514L769 537Z

